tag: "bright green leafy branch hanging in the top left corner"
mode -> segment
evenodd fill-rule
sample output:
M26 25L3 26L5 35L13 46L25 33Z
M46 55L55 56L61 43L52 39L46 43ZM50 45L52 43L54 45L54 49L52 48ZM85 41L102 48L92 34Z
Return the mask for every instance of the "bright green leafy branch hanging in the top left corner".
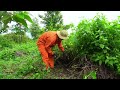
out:
M29 13L26 11L0 11L0 33L7 31L8 23L11 23L11 21L19 23L26 28L28 28L27 21L33 23Z

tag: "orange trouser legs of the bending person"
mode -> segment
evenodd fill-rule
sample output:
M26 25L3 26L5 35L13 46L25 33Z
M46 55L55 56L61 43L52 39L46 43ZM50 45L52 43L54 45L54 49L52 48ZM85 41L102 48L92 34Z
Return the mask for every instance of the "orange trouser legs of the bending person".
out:
M42 60L46 65L46 69L48 69L48 67L54 68L54 57L48 54L48 52L45 49L45 46L39 45L38 49L39 49L40 54L42 56Z

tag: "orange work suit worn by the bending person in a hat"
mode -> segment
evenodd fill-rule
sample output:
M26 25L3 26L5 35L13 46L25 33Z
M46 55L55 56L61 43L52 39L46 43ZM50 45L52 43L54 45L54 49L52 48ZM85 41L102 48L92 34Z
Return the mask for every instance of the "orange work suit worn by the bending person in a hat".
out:
M62 41L58 39L56 31L48 31L43 33L37 41L38 50L41 53L46 69L48 69L48 67L54 68L54 53L51 48L56 44L58 44L59 49L63 52L64 47L62 46Z

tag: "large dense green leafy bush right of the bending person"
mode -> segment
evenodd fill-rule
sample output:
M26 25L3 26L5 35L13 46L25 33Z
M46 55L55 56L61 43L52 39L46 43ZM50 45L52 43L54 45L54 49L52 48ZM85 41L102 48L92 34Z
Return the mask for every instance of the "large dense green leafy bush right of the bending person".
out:
M106 64L120 71L119 19L109 22L97 14L91 20L82 20L76 28L76 43L80 55L87 55L94 62Z

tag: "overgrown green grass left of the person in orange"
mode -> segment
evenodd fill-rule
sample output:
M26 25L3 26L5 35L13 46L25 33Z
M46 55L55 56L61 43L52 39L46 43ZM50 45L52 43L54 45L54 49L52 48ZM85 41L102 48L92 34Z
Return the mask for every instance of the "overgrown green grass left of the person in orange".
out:
M47 73L35 41L15 44L0 52L1 79L42 79Z

